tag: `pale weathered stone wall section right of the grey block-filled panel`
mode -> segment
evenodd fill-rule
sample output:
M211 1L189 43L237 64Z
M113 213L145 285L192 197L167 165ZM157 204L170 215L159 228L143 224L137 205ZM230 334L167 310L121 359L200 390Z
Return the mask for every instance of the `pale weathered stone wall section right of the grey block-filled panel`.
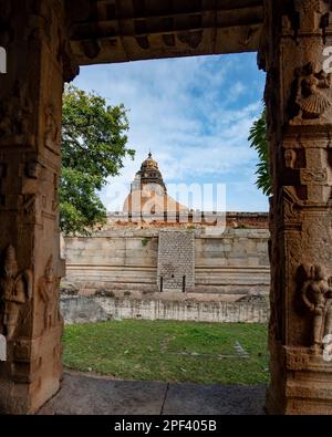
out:
M222 236L196 238L196 292L260 294L269 292L269 232L227 229Z

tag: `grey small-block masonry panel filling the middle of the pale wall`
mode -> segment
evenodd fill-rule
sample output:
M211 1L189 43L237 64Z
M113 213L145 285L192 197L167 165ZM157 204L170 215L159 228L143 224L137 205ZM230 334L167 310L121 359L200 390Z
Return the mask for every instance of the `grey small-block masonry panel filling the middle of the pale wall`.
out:
M158 288L190 291L195 288L195 233L191 230L159 231Z

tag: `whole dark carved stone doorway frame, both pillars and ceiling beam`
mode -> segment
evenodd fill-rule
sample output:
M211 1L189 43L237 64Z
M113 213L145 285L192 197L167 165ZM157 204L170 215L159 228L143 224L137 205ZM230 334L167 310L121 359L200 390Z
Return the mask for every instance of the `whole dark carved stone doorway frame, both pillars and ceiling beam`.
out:
M331 414L330 1L0 0L0 23L1 413L35 412L62 377L63 82L77 64L259 50L273 177L267 410Z

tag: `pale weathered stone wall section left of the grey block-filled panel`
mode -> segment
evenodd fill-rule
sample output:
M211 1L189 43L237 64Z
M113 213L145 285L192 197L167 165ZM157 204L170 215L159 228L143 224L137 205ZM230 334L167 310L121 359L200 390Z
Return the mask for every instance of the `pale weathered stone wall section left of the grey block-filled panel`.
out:
M66 238L66 278L82 294L100 289L156 291L157 231L101 230L93 237Z

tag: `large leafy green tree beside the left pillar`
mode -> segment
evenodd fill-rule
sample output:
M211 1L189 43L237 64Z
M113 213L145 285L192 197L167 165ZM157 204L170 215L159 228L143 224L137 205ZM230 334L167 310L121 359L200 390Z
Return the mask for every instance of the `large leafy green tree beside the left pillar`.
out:
M128 121L121 104L110 106L96 93L68 85L63 95L60 228L87 233L104 223L106 209L98 191L118 175L127 148Z

